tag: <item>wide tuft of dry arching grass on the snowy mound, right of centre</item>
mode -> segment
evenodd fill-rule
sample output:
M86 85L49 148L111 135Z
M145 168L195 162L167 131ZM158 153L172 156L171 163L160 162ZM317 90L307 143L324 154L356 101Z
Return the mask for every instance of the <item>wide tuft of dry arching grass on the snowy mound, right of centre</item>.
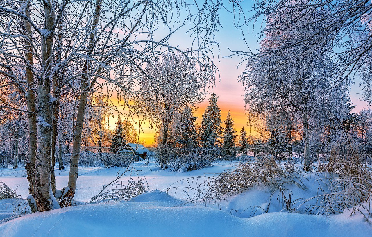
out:
M212 177L198 176L180 180L169 186L166 191L182 190L185 194L185 204L196 205L198 202L206 204L245 192L254 186L267 186L271 190L277 190L288 183L307 190L301 182L301 176L301 169L295 168L293 164L280 166L273 158L264 158L238 164L234 170L227 170ZM187 186L177 186L185 181Z

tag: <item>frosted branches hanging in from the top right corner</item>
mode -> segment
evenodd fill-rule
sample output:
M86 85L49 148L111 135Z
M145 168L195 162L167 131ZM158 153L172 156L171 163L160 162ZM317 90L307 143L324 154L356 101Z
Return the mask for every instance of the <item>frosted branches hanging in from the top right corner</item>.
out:
M305 55L314 48L330 51L338 68L331 72L336 84L347 87L353 77L360 77L365 99L372 99L372 4L371 1L288 1L256 0L253 16L246 15L246 21L262 22L264 27L258 35L277 38L280 35L296 37L280 38L280 45L261 49L262 55L283 54L295 50L293 64L303 65ZM262 26L262 25L260 25ZM278 39L278 38L277 38ZM304 45L298 51L298 44ZM245 56L255 52L243 53Z

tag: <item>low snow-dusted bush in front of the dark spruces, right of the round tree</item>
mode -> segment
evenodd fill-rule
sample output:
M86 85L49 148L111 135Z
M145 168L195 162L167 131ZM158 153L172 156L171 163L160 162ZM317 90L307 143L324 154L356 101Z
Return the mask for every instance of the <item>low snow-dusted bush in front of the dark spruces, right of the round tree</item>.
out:
M174 171L183 173L212 166L213 161L214 159L212 159L212 157L207 153L191 153L187 156L182 156L179 159L171 161L170 167Z

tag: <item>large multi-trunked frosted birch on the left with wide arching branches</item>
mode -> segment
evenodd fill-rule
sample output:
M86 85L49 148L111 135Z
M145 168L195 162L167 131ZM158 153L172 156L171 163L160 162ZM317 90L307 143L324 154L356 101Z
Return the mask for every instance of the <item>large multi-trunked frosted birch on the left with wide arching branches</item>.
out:
M131 107L129 101L140 94L135 89L139 75L157 63L164 48L185 55L196 74L214 80L216 68L208 54L222 8L219 1L0 1L0 74L5 86L26 100L29 200L35 199L38 211L59 207L51 167L62 89L71 87L77 101L70 175L58 197L69 202L76 190L88 95L113 93ZM188 22L194 41L183 51L168 40ZM165 33L155 33L158 26Z

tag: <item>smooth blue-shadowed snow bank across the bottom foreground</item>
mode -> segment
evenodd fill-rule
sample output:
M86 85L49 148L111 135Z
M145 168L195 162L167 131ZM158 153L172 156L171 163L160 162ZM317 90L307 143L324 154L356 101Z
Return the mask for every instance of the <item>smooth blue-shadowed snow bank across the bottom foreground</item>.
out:
M173 201L172 201L173 200ZM234 217L204 206L177 203L158 190L130 202L73 206L24 215L0 225L0 236L369 236L360 215L349 218L295 213Z

